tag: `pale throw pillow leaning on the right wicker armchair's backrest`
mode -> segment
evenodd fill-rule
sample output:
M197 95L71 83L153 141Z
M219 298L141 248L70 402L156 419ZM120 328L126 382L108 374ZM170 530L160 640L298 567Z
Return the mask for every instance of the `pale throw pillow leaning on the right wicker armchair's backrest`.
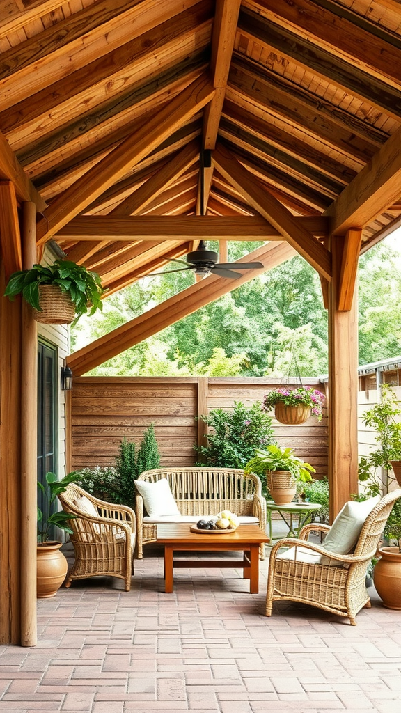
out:
M345 503L345 506L343 506L340 513L338 513L325 537L323 543L325 550L337 553L337 555L347 555L352 552L367 515L372 512L379 501L380 496L376 496L375 498L369 498L369 500L363 500L361 502L349 501ZM340 560L332 560L323 555L321 563L323 565L342 564Z

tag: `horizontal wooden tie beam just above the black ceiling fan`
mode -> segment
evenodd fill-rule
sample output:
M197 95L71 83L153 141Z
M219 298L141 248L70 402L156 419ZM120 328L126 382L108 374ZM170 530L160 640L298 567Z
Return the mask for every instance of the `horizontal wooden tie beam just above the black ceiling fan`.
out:
M293 220L295 225L314 235L328 235L328 218L317 215L293 217ZM178 237L182 240L283 240L283 233L262 215L235 218L211 215L79 215L64 225L56 237L88 242L93 241L94 237L130 241L172 240Z

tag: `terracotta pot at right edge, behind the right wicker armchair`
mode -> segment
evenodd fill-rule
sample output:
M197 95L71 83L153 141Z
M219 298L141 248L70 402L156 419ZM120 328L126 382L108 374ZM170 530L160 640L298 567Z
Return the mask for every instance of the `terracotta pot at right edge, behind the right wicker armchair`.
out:
M377 550L380 560L373 569L377 594L388 609L401 609L401 553L397 547Z

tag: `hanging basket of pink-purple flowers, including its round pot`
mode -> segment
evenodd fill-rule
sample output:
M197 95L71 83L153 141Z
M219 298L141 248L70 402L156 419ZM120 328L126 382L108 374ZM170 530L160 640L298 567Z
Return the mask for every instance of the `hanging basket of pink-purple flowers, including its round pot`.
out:
M303 424L311 413L320 421L324 403L325 394L313 389L313 386L298 386L296 389L280 386L266 394L263 409L274 409L275 418L281 424Z

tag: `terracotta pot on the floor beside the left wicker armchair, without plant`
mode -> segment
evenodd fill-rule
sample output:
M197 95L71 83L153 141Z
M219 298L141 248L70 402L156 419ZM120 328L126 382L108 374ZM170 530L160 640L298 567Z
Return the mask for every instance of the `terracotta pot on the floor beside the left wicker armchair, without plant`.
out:
M54 597L63 584L68 569L60 552L61 542L47 542L36 547L36 596Z

